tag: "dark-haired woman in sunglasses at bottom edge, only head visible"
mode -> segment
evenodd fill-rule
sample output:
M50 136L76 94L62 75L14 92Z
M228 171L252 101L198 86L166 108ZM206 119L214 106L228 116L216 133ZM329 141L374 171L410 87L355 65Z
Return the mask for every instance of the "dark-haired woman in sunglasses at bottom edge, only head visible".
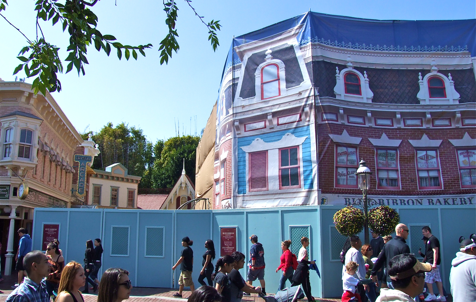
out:
M129 272L121 268L110 268L102 274L99 284L98 302L121 302L129 299L132 284Z

